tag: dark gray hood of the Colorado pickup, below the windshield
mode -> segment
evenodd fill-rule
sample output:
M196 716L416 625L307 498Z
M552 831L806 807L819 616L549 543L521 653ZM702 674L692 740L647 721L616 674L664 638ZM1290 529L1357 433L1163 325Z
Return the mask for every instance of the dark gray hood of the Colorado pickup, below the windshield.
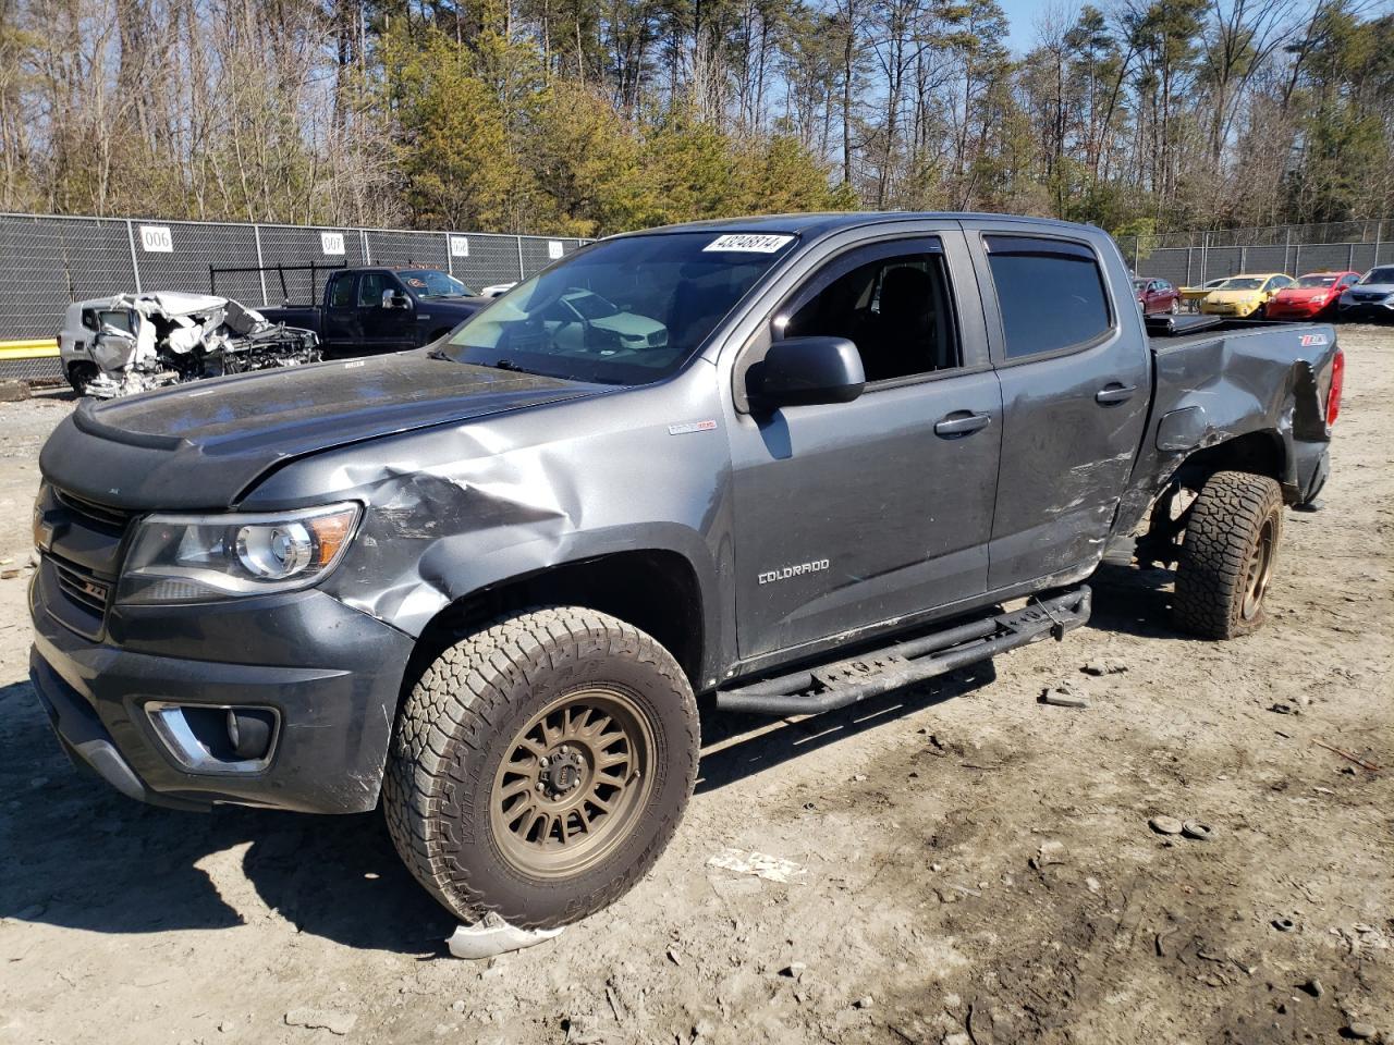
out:
M297 457L605 390L420 350L263 371L86 400L54 429L39 468L117 509L215 509Z

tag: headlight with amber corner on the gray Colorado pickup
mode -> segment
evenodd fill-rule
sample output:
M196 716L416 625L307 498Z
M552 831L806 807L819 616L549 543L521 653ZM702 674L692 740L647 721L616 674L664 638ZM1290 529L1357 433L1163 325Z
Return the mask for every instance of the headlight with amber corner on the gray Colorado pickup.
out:
M351 502L270 514L149 516L125 556L116 601L208 602L307 588L343 557Z

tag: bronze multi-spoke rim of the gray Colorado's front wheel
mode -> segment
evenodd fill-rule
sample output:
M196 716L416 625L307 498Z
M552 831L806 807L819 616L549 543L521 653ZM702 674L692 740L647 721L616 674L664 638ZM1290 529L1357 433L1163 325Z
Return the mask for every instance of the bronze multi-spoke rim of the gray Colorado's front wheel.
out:
M493 777L489 825L503 858L534 878L605 860L648 800L652 751L652 730L620 690L576 690L548 704L513 737Z

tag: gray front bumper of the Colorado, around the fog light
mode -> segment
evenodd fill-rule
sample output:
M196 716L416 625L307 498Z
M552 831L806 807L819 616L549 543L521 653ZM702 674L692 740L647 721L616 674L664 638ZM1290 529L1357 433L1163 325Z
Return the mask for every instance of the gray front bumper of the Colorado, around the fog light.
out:
M132 798L180 808L376 805L408 635L312 589L201 606L117 606L95 640L60 621L54 603L64 598L45 560L29 594L29 679L79 766ZM266 764L190 769L156 729L152 702L273 709L279 727Z

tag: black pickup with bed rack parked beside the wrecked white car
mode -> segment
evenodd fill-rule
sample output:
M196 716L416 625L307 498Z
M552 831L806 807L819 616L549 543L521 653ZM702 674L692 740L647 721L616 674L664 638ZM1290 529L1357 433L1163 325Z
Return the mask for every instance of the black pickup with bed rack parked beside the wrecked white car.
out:
M492 301L439 269L376 266L336 269L319 305L258 311L314 330L326 355L360 355L429 344Z

